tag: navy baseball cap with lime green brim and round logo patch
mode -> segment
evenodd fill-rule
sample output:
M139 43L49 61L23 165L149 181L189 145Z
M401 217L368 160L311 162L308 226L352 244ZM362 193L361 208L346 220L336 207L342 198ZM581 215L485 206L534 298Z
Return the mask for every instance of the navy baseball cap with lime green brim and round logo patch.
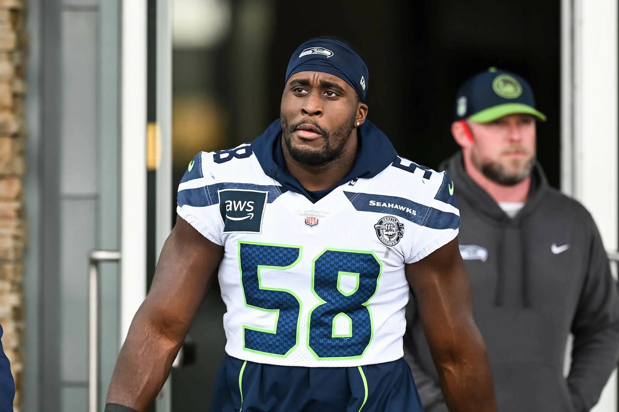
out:
M456 120L487 123L508 114L546 116L535 109L535 96L529 82L505 70L490 67L469 78L458 90Z

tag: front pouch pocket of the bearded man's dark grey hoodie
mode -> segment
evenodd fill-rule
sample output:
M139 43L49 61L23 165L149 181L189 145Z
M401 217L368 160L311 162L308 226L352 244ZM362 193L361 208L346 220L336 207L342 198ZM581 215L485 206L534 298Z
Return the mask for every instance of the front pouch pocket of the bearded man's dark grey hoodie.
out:
M560 367L511 361L491 369L500 412L576 412Z

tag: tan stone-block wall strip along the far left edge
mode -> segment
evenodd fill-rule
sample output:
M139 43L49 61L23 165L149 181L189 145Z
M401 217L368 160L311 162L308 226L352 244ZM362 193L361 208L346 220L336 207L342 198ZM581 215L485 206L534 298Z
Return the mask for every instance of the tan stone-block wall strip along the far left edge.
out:
M0 324L17 387L15 411L24 359L25 12L23 0L0 0Z

